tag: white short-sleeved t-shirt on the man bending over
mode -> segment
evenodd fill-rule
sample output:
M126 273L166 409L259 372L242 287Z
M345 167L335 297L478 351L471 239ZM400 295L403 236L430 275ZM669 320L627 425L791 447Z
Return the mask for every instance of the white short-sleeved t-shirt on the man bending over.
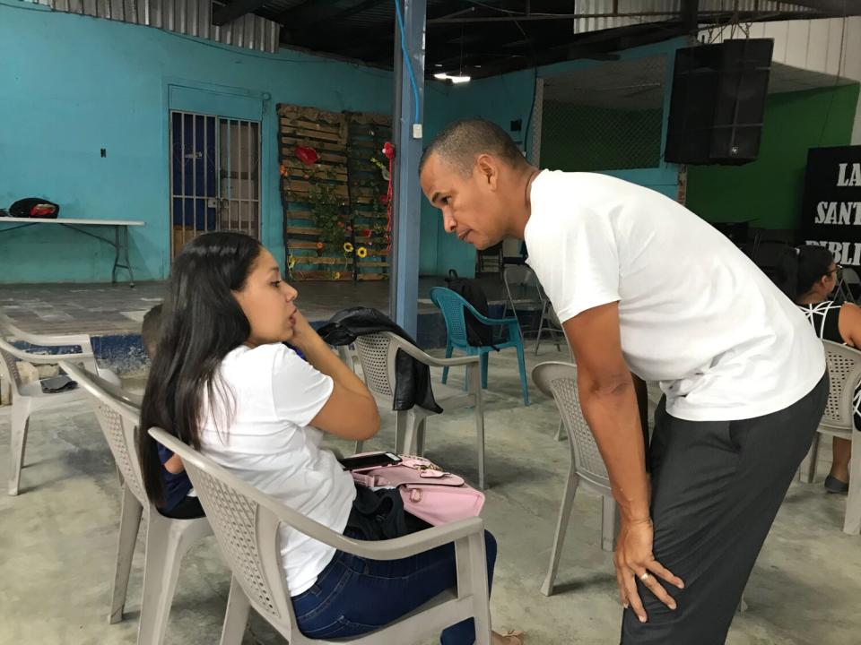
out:
M760 417L822 379L804 314L681 204L612 176L549 170L530 198L527 262L559 319L618 301L625 361L660 383L672 416Z

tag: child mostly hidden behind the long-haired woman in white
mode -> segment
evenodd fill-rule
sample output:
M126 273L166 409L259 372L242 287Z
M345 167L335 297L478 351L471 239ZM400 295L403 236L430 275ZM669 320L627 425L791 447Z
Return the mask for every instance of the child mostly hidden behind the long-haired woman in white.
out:
M155 305L143 316L141 341L143 349L150 360L155 357L161 331L161 305ZM164 483L164 503L157 506L158 511L175 520L190 520L204 516L204 507L191 486L191 480L186 475L186 468L178 455L170 452L161 443L158 444L159 460L161 460L161 479Z

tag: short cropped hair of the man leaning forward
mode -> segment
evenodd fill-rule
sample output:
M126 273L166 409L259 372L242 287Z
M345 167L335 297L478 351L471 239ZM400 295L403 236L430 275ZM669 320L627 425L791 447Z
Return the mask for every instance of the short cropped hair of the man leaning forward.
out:
M514 168L526 164L526 159L511 141L509 133L499 125L480 118L455 121L443 128L424 150L420 172L434 154L457 168L463 176L472 175L475 158L481 154L490 154L507 161Z

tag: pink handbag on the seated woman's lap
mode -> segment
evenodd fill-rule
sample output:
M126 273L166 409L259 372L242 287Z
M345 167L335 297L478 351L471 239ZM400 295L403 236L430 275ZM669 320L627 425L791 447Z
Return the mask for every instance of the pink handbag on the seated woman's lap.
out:
M477 517L484 494L424 457L401 455L393 466L375 466L352 471L352 478L369 488L398 488L404 510L420 520L439 526Z

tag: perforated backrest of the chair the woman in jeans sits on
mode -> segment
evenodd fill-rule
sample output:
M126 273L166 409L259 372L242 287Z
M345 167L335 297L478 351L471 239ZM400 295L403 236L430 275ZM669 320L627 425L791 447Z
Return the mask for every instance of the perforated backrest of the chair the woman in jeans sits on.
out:
M278 503L161 428L151 428L150 435L182 459L222 556L251 604L292 641L296 618L281 562L279 515L311 537L335 532Z

